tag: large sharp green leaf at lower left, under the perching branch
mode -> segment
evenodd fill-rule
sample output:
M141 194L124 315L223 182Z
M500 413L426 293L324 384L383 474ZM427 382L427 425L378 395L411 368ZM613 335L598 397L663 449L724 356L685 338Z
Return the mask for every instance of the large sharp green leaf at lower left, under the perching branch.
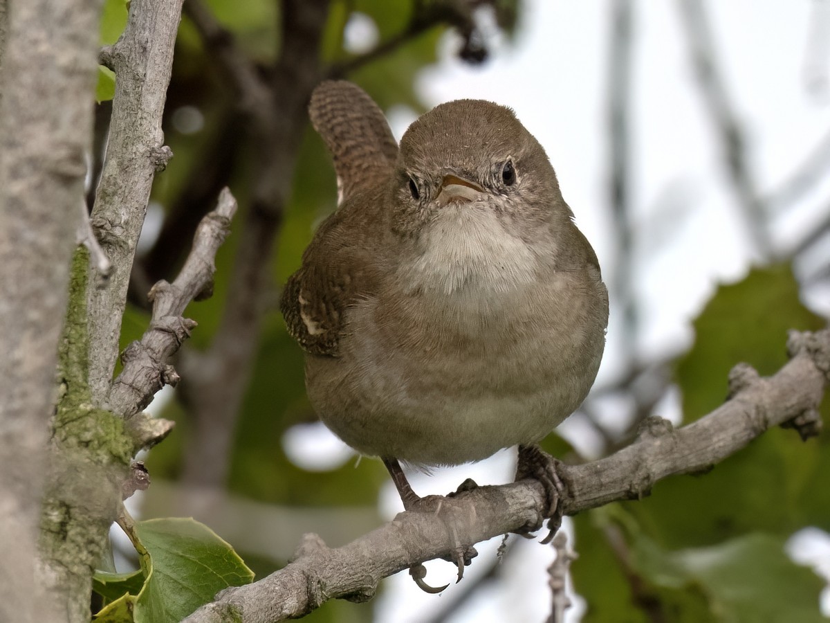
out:
M147 549L147 581L135 603L136 623L181 621L227 586L253 580L233 548L193 519L150 519L135 524Z

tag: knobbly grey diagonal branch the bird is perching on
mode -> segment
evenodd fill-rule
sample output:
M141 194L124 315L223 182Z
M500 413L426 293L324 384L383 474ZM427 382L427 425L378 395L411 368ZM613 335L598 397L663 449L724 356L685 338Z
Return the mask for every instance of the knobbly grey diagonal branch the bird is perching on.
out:
M803 436L816 434L818 405L830 384L830 330L793 331L788 350L791 360L769 378L759 377L749 365L736 365L730 373L730 399L693 424L674 430L665 420L648 419L627 448L588 464L561 464L559 508L573 515L642 498L661 478L701 472L780 424L794 424ZM447 515L457 518L461 541L471 544L540 527L545 506L542 486L533 480L476 488L444 504L452 507ZM220 592L186 621L272 623L304 616L332 598L365 601L383 577L446 555L452 547L442 520L427 513L401 513L336 549L306 535L293 562L253 584Z

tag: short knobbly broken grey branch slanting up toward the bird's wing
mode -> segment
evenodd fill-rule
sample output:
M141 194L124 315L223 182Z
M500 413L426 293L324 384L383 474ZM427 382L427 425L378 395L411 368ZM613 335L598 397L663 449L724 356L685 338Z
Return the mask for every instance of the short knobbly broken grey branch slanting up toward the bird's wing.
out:
M144 407L165 383L178 381L168 361L188 338L196 323L184 318L191 301L209 297L218 248L230 231L237 200L231 191L222 190L217 208L205 215L193 238L193 248L173 283L156 283L149 292L153 302L150 326L140 341L130 344L121 356L124 370L115 379L110 393L110 408L129 419Z

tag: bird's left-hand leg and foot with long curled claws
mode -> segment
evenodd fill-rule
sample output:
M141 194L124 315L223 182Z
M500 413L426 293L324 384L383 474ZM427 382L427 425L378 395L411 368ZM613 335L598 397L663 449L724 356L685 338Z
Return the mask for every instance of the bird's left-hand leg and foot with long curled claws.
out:
M461 581L461 578L464 576L464 567L469 565L472 559L478 556L478 552L476 552L475 547L461 544L461 539L458 537L456 529L456 522L454 521L454 518L452 518L452 507L447 507L442 504L444 501L442 496L430 495L426 498L422 498L415 493L412 485L410 485L407 480L406 474L403 473L403 469L401 468L401 464L398 463L398 459L383 457L383 464L386 465L389 475L392 477L392 482L395 483L395 488L398 489L398 494L401 496L401 502L403 502L404 509L414 513L435 513L442 516L447 514L450 515L450 517L442 517L442 520L447 525L450 536L452 537L452 557L447 556L442 558L447 562L456 563L458 567L457 582ZM450 493L447 498L452 498L459 493L471 491L477 486L478 485L476 485L471 478L467 478L463 483L461 483L461 486L457 488L454 493ZM409 575L413 576L413 580L422 591L440 593L447 588L447 586L449 586L448 584L441 587L429 586L423 579L424 576L426 576L426 573L426 569L420 563L413 565L413 567L409 567Z

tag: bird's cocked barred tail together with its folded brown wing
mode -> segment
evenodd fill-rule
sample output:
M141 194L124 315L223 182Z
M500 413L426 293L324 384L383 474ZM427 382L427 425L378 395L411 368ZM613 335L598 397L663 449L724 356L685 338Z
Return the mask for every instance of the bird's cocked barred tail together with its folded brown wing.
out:
M305 249L280 309L303 350L336 357L344 312L372 291L371 248L377 241L367 225L383 213L381 189L393 172L398 145L378 105L349 82L321 83L309 115L334 157L341 207Z

